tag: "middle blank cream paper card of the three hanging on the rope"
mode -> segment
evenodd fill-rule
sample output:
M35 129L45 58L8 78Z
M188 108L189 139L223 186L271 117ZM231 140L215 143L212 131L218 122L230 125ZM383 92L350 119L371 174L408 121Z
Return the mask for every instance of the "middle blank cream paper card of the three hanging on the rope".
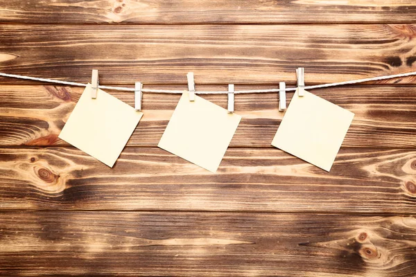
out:
M241 116L199 96L189 101L185 91L158 146L216 172L240 120Z

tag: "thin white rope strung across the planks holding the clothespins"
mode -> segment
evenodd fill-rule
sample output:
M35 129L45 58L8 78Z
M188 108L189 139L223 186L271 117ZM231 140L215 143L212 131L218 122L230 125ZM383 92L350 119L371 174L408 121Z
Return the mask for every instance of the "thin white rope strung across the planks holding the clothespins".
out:
M408 73L400 73L395 75L385 75L385 76L379 76L379 77L373 77L373 78L366 78L366 79L359 79L359 80L351 80L351 81L345 81L345 82L333 82L330 84L317 84L314 86L306 86L304 89L322 89L325 87L338 87L338 86L344 86L347 84L359 84L362 82L370 82L370 81L379 81L379 80L388 80L393 78L401 78L401 77L408 77L416 75L416 71L414 72L408 72ZM60 80L53 80L53 79L46 79L46 78L36 78L36 77L30 77L25 75L15 75L15 74L8 74L8 73L0 73L0 76L8 77L8 78L17 78L17 79L24 79L24 80L33 80L33 81L39 81L39 82L51 82L54 84L67 84L69 86L75 86L75 87L87 87L87 84L83 84L80 82L67 82L67 81L60 81ZM111 89L115 91L135 91L133 88L129 87L109 87L109 86L103 86L99 85L98 88L100 89ZM286 88L284 91L295 91L296 87ZM168 94L182 94L184 92L183 90L176 91L176 90L168 90L168 89L142 89L143 92L150 92L150 93L168 93ZM245 90L245 91L234 91L234 93L270 93L270 92L279 92L279 89L252 89L252 90ZM196 94L227 94L228 91L195 91Z

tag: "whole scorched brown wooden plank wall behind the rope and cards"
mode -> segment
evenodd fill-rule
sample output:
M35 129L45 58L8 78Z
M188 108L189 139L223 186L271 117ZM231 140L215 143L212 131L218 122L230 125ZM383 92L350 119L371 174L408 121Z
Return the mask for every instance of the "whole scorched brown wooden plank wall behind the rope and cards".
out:
M416 71L416 2L0 0L0 72L198 91L299 66ZM236 96L216 174L157 148L179 96L145 93L111 169L58 139L80 93L0 78L1 276L416 276L415 77L313 91L356 114L329 173L270 146L276 93Z

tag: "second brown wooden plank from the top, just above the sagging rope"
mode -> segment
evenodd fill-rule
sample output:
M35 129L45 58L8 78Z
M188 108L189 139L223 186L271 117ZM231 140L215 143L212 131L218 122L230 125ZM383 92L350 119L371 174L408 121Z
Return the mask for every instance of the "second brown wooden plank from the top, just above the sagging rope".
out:
M0 72L85 83L99 69L101 84L186 84L189 71L197 87L294 84L295 69L302 66L306 84L314 84L415 71L416 64L416 24L10 24L0 25L0 33Z

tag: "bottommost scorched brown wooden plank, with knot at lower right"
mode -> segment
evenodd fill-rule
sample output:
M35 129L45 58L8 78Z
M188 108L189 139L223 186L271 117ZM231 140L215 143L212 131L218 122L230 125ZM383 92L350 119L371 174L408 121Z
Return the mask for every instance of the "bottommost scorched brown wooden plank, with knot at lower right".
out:
M413 276L413 216L0 213L4 276Z

